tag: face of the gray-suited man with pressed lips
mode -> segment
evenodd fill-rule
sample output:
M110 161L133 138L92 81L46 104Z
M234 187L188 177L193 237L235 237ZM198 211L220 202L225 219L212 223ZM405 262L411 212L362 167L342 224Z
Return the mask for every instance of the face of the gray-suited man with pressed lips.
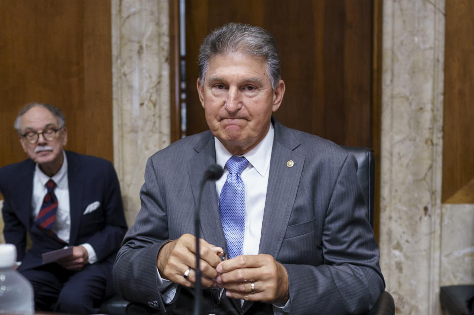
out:
M197 91L207 125L234 155L254 148L267 134L270 118L281 104L285 84L272 89L263 57L242 53L210 58Z

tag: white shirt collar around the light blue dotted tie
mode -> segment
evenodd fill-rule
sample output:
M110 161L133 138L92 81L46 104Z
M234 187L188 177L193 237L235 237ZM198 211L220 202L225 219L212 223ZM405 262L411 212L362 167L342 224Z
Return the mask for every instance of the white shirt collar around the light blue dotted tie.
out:
M249 161L249 165L253 166L261 176L265 176L270 168L274 136L275 129L271 123L270 129L262 141L260 141L255 148L242 155ZM214 143L216 147L216 163L224 168L227 160L232 157L232 154L227 151L224 145L216 137L214 137Z

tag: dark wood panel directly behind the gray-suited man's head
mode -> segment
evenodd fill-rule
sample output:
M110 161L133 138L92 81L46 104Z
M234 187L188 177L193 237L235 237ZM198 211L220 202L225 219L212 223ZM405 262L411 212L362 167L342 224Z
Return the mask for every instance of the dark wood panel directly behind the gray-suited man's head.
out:
M187 0L187 134L207 129L196 92L197 53L226 22L261 26L276 39L286 92L283 124L339 144L373 147L371 0Z

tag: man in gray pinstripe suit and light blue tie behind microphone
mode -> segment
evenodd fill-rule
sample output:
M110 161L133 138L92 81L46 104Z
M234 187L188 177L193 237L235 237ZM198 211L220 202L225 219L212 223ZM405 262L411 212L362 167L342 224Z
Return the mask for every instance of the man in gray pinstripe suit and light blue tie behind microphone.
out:
M210 130L149 158L142 208L114 266L117 291L166 314L192 312L193 211L217 163L224 174L204 186L200 210L205 314L368 311L385 284L356 159L272 117L285 92L272 35L226 24L198 62Z

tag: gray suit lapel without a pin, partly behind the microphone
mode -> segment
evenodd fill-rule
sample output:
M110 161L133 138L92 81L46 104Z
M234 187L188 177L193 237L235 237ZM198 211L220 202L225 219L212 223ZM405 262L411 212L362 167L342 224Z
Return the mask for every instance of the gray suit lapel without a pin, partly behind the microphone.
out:
M201 141L194 147L194 150L197 154L188 161L188 174L193 192L194 206L196 206L199 197L199 185L204 172L209 165L216 162L216 150L212 133L205 133ZM217 198L215 183L208 181L202 190L201 207L199 211L201 238L205 239L208 243L226 249L226 238L222 230ZM191 222L194 222L194 218ZM194 228L192 231L194 231Z

